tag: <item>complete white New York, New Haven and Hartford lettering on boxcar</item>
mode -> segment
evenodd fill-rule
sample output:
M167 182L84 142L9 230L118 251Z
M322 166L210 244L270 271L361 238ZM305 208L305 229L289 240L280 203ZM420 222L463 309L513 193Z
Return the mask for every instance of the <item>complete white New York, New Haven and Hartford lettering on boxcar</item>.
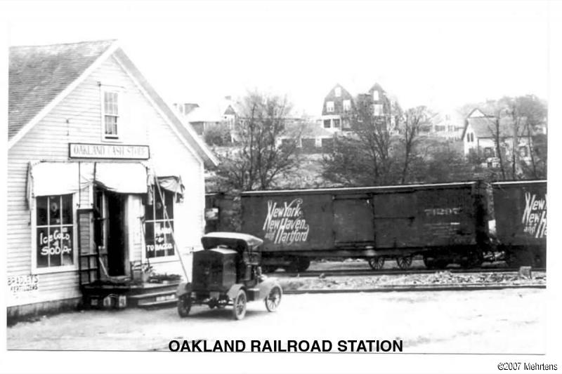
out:
M308 239L310 227L303 216L303 200L294 199L277 204L268 201L268 213L263 222L265 238L275 244L293 244Z

